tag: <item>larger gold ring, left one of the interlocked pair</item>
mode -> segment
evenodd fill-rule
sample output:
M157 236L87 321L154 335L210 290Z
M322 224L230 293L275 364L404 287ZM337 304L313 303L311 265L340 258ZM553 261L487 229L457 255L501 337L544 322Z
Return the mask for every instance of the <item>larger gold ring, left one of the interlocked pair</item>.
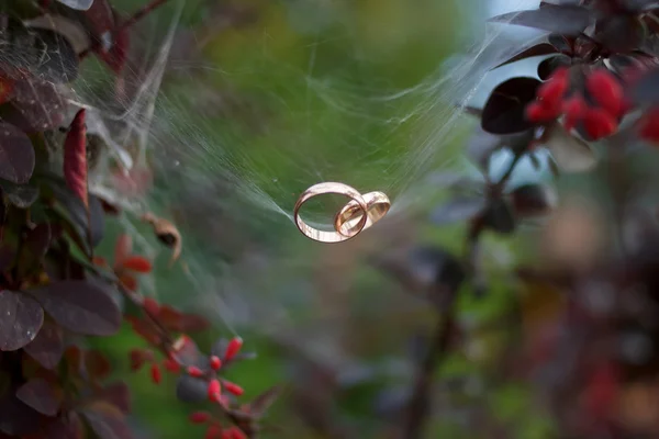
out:
M356 215L361 214L360 218L356 223L349 223L349 226L346 227L345 234L339 232L319 230L316 228L311 227L300 217L300 209L302 207L302 205L304 205L304 203L306 203L314 196L324 195L328 193L334 193L350 199L350 201L340 210L340 212L343 212L349 205L350 217L348 218L348 221L356 219ZM335 225L337 223L336 218L339 214L337 214L337 216L335 217ZM369 219L368 206L359 191L357 191L354 188L350 188L347 184L336 182L319 183L305 190L295 203L295 207L293 210L293 217L295 219L295 225L304 236L321 243L340 243L350 239L365 228ZM345 224L345 221L342 224Z

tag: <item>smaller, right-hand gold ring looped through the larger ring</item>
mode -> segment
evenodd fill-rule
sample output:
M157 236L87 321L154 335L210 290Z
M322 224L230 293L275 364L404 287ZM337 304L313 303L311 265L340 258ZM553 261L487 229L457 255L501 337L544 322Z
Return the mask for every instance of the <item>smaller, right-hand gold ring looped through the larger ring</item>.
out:
M382 219L391 207L391 201L383 192L369 192L362 196L366 201L366 224L360 226L365 216L364 210L355 200L351 200L334 217L334 229L336 232L344 236L355 236L355 230L357 233L366 230Z

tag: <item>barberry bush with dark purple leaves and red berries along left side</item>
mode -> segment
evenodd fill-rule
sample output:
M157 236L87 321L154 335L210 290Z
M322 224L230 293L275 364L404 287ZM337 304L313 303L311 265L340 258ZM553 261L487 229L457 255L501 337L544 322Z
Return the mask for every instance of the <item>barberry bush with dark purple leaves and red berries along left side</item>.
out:
M145 296L141 277L152 261L120 235L111 260L96 252L107 215L121 206L94 195L98 138L71 82L82 60L97 57L113 75L126 64L130 30L163 1L136 4L122 16L110 0L12 1L0 7L0 436L7 438L131 438L131 392L111 380L107 356L90 337L129 326L143 344L124 352L154 385L176 374L190 423L206 438L247 438L259 431L272 387L243 401L224 372L250 358L239 337L204 352L191 334L209 323ZM63 23L66 23L63 24ZM71 38L75 30L77 40ZM69 31L68 33L66 31ZM80 46L80 41L88 42ZM181 235L150 213L142 219L171 249ZM206 408L199 409L199 403ZM194 407L194 408L192 408Z

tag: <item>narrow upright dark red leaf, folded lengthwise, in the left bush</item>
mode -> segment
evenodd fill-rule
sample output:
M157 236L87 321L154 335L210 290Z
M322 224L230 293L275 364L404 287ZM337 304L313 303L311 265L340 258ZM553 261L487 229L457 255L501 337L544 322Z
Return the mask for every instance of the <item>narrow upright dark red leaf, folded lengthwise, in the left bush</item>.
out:
M64 142L64 179L68 188L88 206L85 114L85 109L78 111Z

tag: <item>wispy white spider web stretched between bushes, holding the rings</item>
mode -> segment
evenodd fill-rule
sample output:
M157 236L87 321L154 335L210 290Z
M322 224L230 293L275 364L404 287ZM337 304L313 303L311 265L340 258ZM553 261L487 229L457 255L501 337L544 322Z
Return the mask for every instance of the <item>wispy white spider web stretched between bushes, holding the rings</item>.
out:
M178 302L181 289L190 291L183 305L231 328L255 318L261 330L286 326L315 306L320 260L353 260L361 236L326 250L298 233L292 209L312 184L342 181L362 193L386 192L393 204L384 232L378 234L378 224L365 235L371 249L391 250L386 224L428 207L440 189L438 170L466 169L447 153L473 126L463 109L487 95L488 69L518 50L504 26L488 27L471 47L462 44L467 55L438 61L401 89L358 47L328 66L332 50L359 35L340 26L331 2L290 2L297 27L289 32L305 34L306 63L281 55L267 29L247 26L227 30L227 38L257 38L263 47L228 68L181 56L203 44L181 22L199 4L172 4L174 14L153 14L135 31L137 57L119 79L85 66L69 103L88 109L89 132L108 146L90 190L124 209L122 227L141 250L168 257L141 224L145 212L172 219L183 235L181 263L150 279L146 291ZM434 12L428 5L421 13ZM338 29L333 38L315 32L332 20ZM368 81L355 74L360 69L372 72ZM124 175L149 170L154 184L126 193L116 168ZM310 203L305 215L327 224L338 205L331 201ZM185 283L175 281L181 274Z

